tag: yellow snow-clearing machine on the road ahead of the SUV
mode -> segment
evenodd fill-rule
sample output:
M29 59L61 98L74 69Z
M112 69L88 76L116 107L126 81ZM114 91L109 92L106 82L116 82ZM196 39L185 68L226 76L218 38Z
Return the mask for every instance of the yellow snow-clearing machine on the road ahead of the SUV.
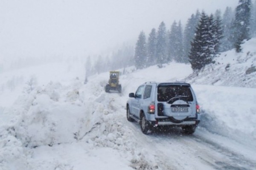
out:
M119 71L110 71L108 84L105 86L105 91L109 93L112 91L122 92L122 86L119 84Z

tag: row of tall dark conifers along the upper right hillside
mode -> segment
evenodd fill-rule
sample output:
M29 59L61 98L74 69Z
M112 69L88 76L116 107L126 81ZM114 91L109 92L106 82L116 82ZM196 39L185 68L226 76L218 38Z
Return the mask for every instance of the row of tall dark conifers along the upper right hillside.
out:
M256 0L239 0L235 11L227 7L224 14L196 11L187 20L184 31L181 22L174 21L169 30L161 22L158 29L151 29L148 38L141 31L135 45L134 64L137 69L151 65L163 67L168 62L190 63L193 70L200 70L213 62L219 52L236 48L256 36Z

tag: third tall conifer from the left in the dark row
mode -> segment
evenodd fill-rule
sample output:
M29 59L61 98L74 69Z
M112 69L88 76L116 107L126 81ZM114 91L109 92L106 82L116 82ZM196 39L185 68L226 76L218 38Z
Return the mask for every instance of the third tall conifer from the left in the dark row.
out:
M160 23L157 31L157 65L159 68L163 67L163 63L166 62L167 58L167 42L166 42L166 25L164 22Z

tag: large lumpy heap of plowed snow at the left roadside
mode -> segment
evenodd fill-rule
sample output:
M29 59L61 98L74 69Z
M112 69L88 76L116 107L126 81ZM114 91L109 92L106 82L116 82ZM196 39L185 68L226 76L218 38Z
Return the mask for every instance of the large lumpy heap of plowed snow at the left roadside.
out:
M0 129L0 167L9 169L10 163L15 167L23 162L22 169L26 169L25 148L76 142L100 122L98 103L86 101L85 105L84 91L78 89L81 84L74 82L68 87L52 82L37 87L20 96L12 109L1 113L6 120Z

